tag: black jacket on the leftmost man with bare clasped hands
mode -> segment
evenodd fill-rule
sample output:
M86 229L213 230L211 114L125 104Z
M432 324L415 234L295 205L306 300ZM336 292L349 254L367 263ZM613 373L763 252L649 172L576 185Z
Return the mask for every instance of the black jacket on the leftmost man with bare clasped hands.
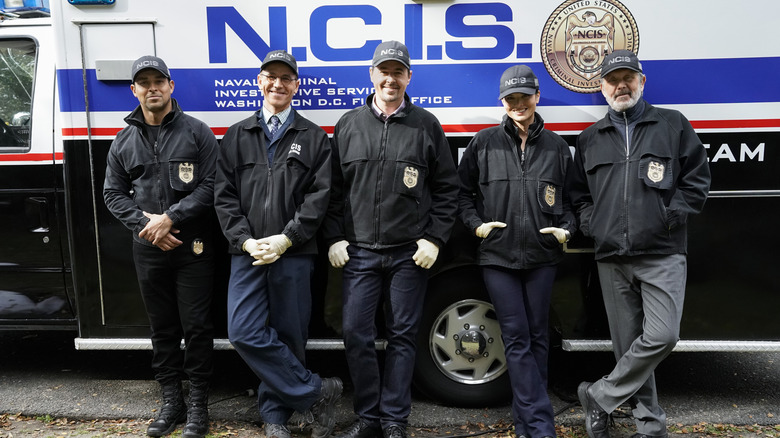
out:
M125 118L128 126L119 131L108 151L103 198L106 207L138 237L149 218L143 212L165 213L182 241L211 233L214 203L214 171L217 140L200 120L179 108L163 119L157 143L143 134L143 112L138 106Z

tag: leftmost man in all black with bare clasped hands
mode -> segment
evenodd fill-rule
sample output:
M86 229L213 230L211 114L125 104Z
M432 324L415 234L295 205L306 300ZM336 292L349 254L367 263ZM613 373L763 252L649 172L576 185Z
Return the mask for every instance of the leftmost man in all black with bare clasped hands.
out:
M174 83L162 59L143 56L131 73L140 105L111 144L103 196L109 211L133 231L133 259L152 329L152 368L164 404L147 434L169 434L186 419L182 436L203 437L214 345L217 140L171 98ZM184 376L190 381L189 409Z

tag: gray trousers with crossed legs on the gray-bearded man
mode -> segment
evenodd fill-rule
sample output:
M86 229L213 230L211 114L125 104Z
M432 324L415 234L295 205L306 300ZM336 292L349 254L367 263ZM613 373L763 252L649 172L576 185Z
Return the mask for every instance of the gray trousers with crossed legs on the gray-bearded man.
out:
M591 395L607 412L628 402L638 433L666 435L654 371L680 338L686 256L615 256L598 268L617 364Z

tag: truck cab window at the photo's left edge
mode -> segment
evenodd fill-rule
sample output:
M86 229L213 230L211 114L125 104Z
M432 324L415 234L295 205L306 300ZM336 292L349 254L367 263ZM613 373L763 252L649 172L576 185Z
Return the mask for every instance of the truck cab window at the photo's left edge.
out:
M30 148L36 54L33 40L0 39L0 153Z

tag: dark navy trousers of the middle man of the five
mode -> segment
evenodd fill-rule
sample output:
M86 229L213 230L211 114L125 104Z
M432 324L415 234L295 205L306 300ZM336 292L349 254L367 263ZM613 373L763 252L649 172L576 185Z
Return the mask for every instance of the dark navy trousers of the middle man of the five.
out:
M344 265L344 344L355 385L355 413L375 425L405 427L412 407L415 337L428 281L414 264L417 245L369 250L347 247ZM384 303L387 349L380 376L374 341L376 314Z

